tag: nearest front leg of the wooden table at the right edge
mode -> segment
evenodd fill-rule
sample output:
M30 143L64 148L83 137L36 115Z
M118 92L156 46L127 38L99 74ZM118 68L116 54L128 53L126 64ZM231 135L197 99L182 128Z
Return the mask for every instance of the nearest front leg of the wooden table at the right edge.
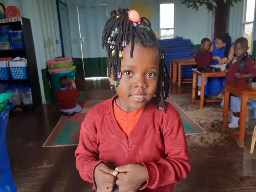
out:
M241 109L240 109L240 119L239 119L238 146L243 147L248 96L242 95L240 99L241 99Z

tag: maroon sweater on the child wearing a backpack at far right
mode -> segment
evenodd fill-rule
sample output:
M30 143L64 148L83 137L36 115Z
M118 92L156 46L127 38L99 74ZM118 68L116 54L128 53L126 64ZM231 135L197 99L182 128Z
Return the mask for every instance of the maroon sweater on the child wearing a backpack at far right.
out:
M235 73L238 71L239 64L242 58L232 63L233 60L229 63L228 73L226 76L226 83L235 83ZM254 61L251 58L248 58L244 64L244 68L241 74L253 74L253 77L256 76L256 66L254 65ZM246 83L245 78L237 78L237 84Z

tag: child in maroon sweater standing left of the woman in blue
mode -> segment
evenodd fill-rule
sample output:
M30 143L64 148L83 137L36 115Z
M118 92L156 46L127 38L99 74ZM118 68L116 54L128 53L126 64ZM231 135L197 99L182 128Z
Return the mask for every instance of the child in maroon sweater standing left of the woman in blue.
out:
M213 64L212 53L209 51L211 46L211 41L208 38L203 38L201 40L201 49L197 51L195 61L198 66L210 66ZM207 85L208 78L205 78L205 85ZM198 96L200 99L201 95L201 76L197 76L197 86L198 86ZM204 95L204 97L207 97Z

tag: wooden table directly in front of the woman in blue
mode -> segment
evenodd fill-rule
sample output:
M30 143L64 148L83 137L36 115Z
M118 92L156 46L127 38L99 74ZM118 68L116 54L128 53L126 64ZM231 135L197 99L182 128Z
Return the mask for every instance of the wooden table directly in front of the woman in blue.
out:
M226 77L224 71L208 71L208 72L200 72L197 69L193 70L193 83L192 83L192 101L200 106L200 109L204 107L204 102L221 102L221 99L216 100L204 100L205 94L205 78L206 77ZM196 76L201 76L201 95L200 100L196 99Z

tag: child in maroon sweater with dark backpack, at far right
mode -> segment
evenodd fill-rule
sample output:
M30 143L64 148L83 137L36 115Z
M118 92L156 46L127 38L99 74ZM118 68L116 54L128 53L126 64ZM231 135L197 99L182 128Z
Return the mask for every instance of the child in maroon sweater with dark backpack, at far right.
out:
M246 78L256 76L256 66L251 58L248 58L247 50L248 40L244 37L238 38L234 45L234 53L236 57L226 66L225 72L226 83L246 83ZM245 60L244 68L241 72L238 71L241 61ZM240 118L240 98L230 96L230 106L233 111L232 119L229 120L228 127L236 128L238 127L238 121Z

